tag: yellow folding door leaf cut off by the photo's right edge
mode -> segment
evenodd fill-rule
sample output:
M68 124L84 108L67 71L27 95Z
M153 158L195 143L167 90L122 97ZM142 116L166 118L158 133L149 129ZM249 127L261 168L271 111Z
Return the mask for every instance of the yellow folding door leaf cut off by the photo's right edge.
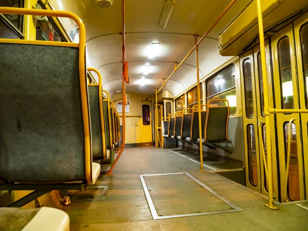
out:
M308 109L308 13L294 22L300 109ZM308 198L308 114L301 114L305 195Z

